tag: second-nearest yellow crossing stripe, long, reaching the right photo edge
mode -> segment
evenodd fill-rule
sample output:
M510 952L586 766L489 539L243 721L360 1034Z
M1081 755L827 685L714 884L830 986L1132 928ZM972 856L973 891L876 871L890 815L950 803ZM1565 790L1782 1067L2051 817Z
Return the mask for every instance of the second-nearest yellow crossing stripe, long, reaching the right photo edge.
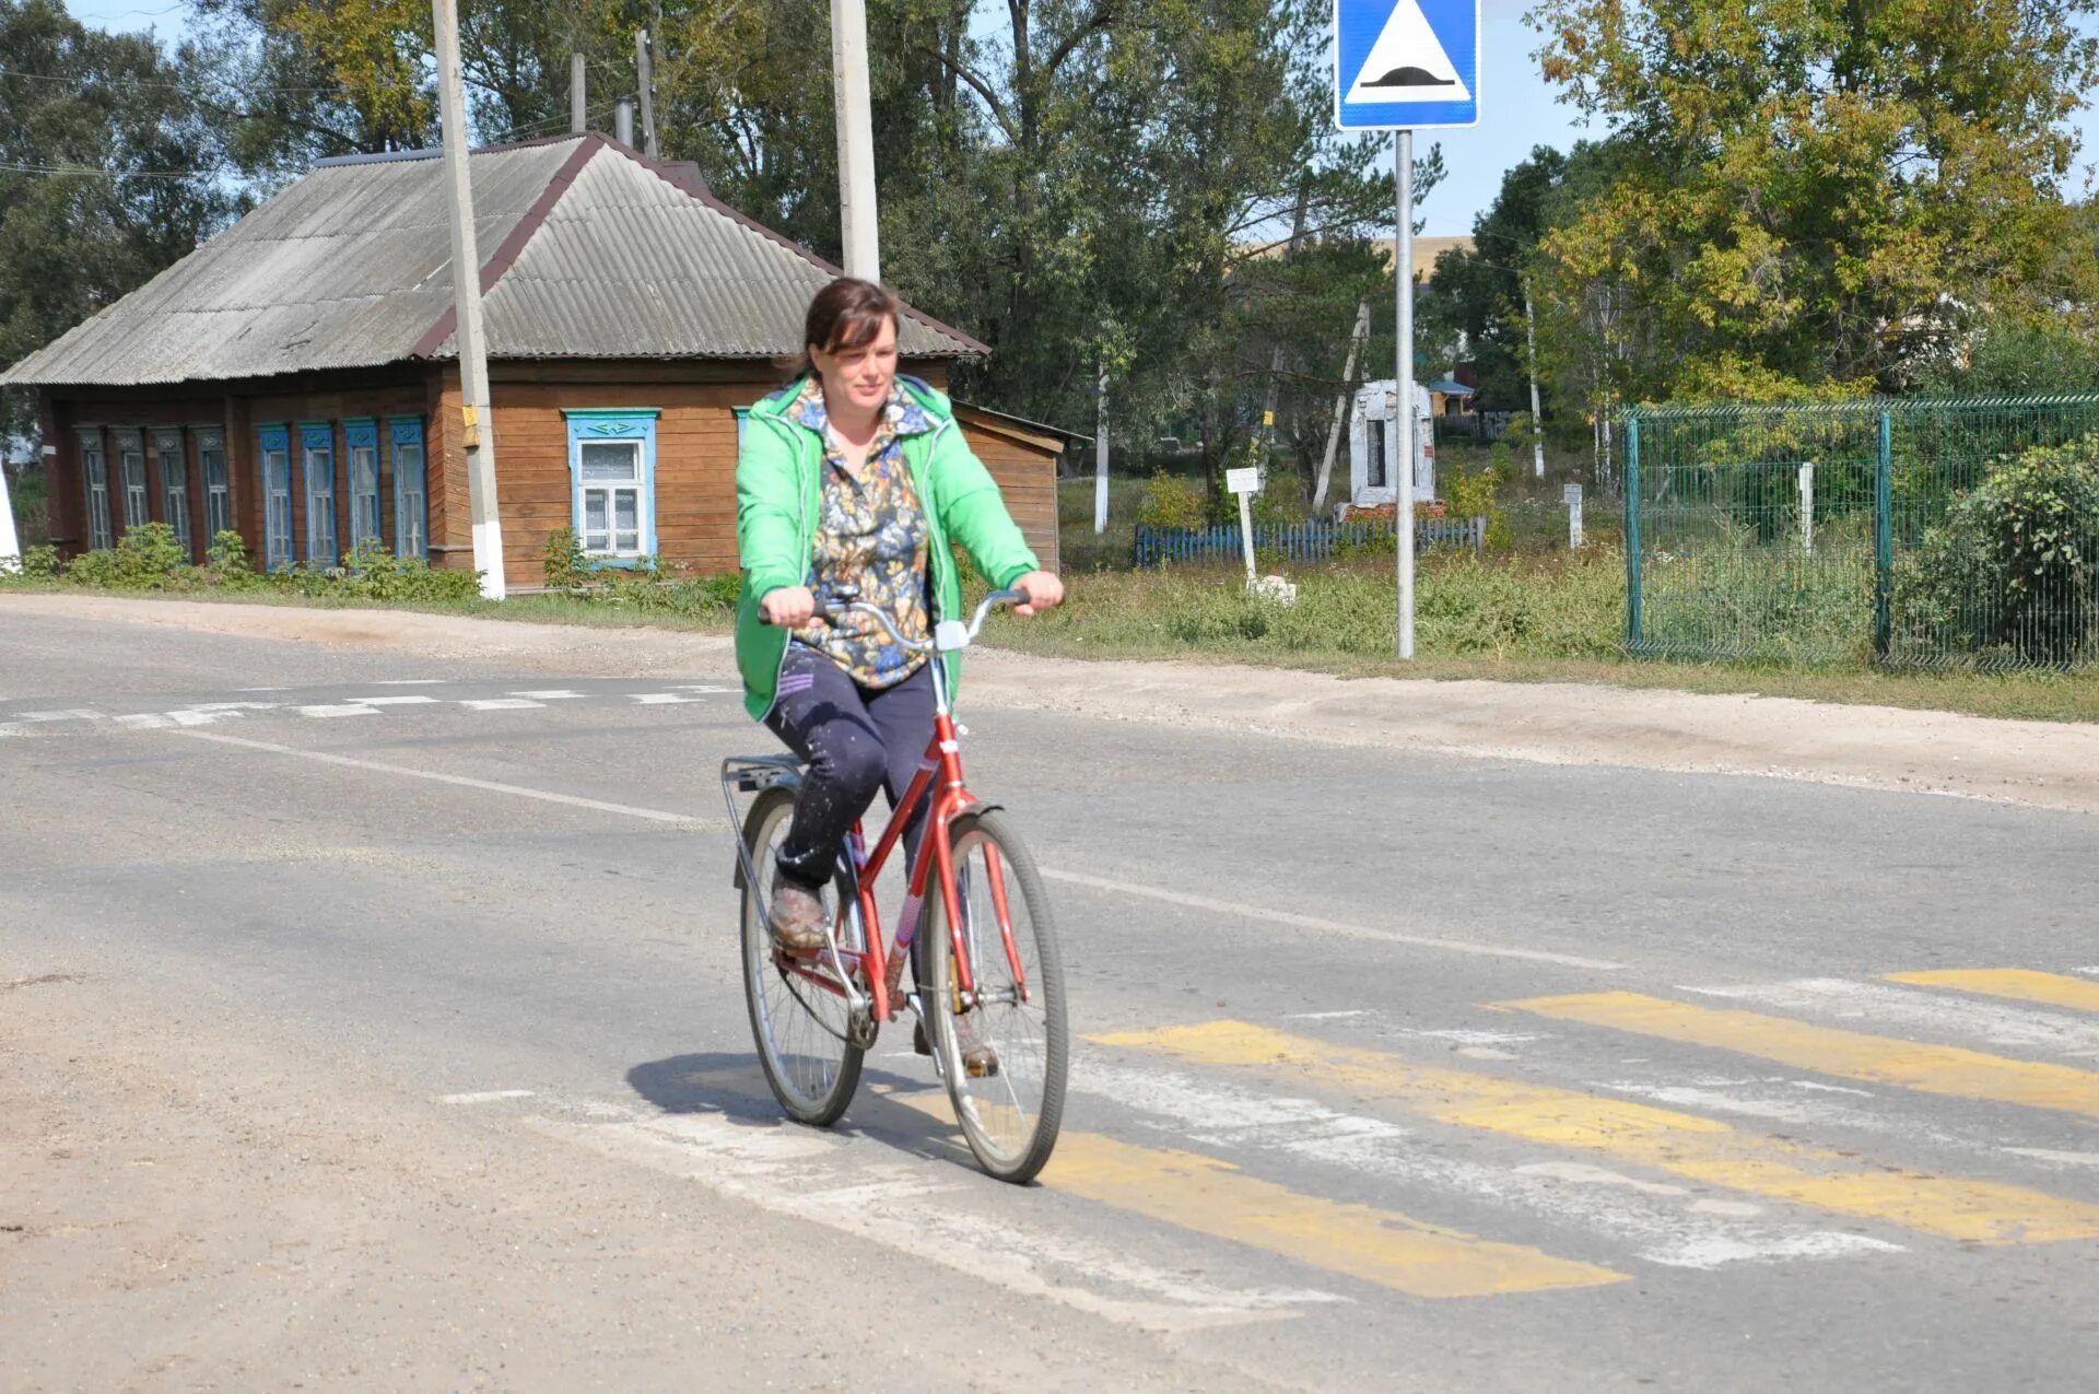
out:
M1398 1104L1440 1123L1595 1153L1709 1186L1860 1220L1885 1220L1946 1239L2099 1239L2099 1205L2026 1186L1862 1163L1858 1157L1746 1134L1692 1113L1415 1064L1379 1050L1335 1046L1251 1022L1215 1020L1087 1039L1207 1066L1287 1071L1314 1087Z

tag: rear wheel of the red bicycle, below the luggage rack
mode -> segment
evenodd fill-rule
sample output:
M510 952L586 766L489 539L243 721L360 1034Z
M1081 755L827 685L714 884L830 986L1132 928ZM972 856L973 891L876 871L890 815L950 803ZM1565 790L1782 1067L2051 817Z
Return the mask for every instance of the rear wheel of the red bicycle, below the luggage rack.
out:
M793 789L775 785L758 796L743 821L758 886L743 886L743 999L751 1010L758 1064L772 1098L787 1117L829 1127L861 1087L865 1052L852 1043L852 1012L844 993L821 980L812 959L791 959L772 945L766 907L779 875L772 852L793 821ZM844 886L833 886L825 909L835 909ZM854 945L840 943L842 949Z

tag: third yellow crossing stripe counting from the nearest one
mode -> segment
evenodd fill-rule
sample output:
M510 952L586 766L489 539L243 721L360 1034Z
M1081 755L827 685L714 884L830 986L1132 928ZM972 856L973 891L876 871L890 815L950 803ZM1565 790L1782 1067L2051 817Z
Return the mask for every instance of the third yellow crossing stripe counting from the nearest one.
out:
M1891 1083L1921 1094L2061 1108L2099 1119L2099 1075L2068 1064L2011 1060L1958 1046L1862 1035L1835 1027L1811 1027L1784 1016L1700 1008L1641 993L1574 993L1497 1006L1665 1041L1732 1050L1820 1075Z

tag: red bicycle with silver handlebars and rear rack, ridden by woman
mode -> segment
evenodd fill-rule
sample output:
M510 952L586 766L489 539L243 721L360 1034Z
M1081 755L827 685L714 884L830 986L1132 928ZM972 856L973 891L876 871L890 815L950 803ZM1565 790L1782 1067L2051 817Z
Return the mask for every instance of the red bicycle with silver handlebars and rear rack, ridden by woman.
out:
M825 896L829 943L823 951L785 953L766 920L777 875L772 854L793 821L802 762L793 756L722 762L730 823L743 819L737 842L743 991L758 1060L781 1108L814 1127L835 1123L852 1102L861 1062L882 1022L911 1012L926 1031L934 1069L976 1161L1016 1184L1033 1180L1050 1161L1064 1115L1070 1054L1064 970L1035 859L1005 812L963 785L963 728L955 724L938 655L968 649L995 605L1020 598L1012 590L995 592L968 626L957 619L934 626L930 642L905 640L884 611L856 603L856 592L838 590L825 598L827 615L865 611L898 645L934 655L934 728L917 779L873 852L858 823L846 836ZM737 794L756 796L747 812ZM926 833L907 871L896 941L884 947L875 882L926 800ZM924 980L907 993L903 970L919 934L926 936Z

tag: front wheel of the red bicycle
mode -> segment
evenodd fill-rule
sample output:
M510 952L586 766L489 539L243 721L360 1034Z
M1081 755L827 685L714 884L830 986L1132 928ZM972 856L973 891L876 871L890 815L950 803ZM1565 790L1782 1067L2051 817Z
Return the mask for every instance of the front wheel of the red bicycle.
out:
M928 1031L940 1054L955 1119L978 1165L1020 1184L1050 1161L1064 1119L1070 1054L1064 962L1050 894L1005 815L997 808L963 812L949 825L949 846L961 949L976 991L963 999L947 905L934 884L926 892L926 924L919 930L930 936L932 959ZM991 1048L995 1066L972 1075L968 1056L980 1048Z

